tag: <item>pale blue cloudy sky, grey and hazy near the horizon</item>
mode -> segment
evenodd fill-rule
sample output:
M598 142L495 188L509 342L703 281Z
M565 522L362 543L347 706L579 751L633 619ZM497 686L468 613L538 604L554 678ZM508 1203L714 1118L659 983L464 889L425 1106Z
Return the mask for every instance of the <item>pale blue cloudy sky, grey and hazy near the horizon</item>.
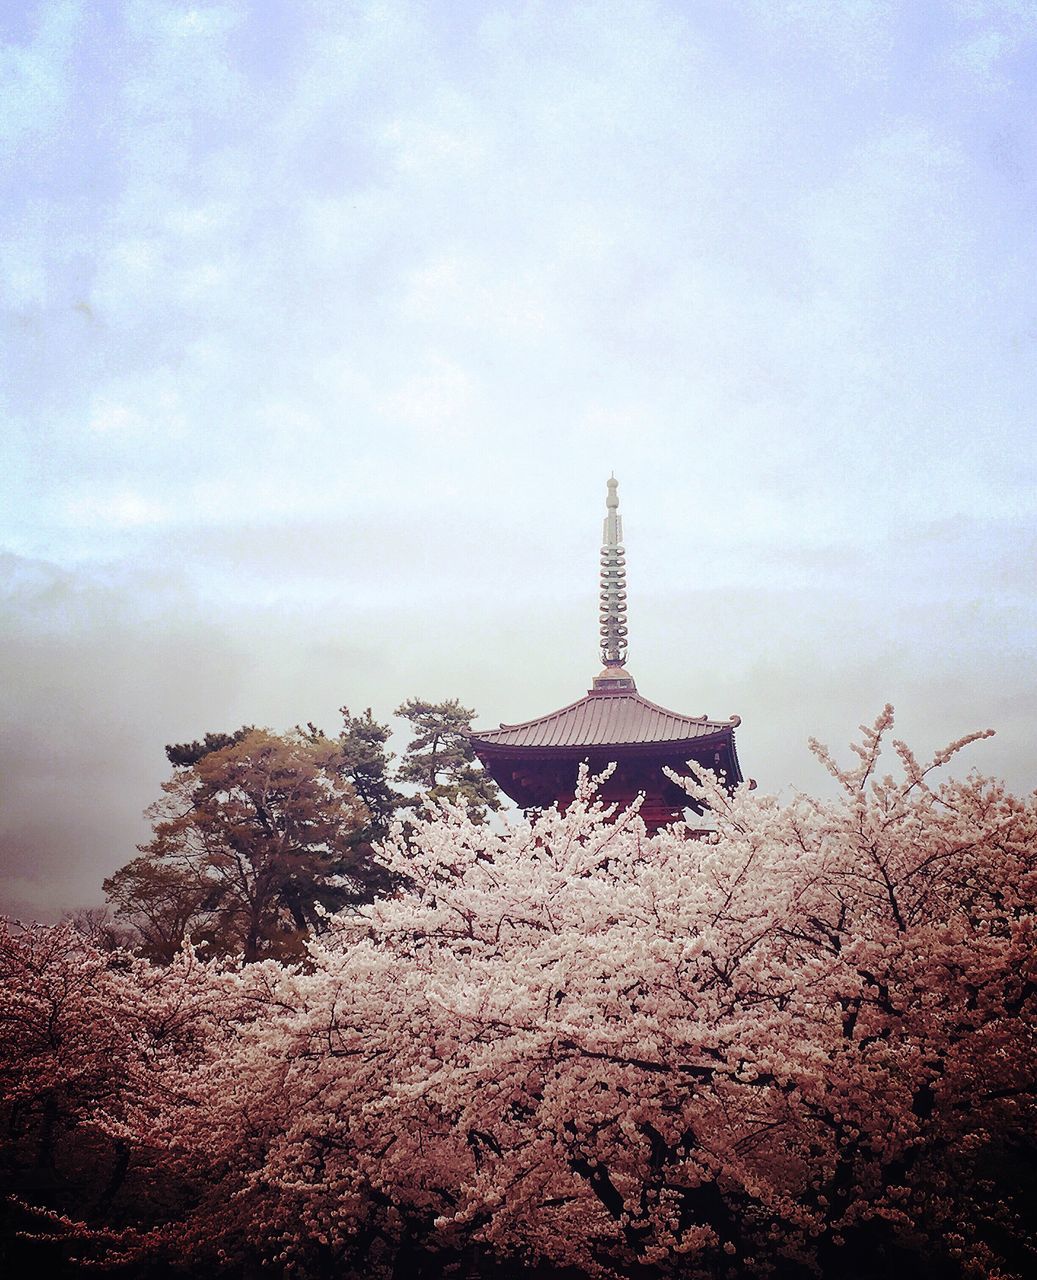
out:
M1033 790L1031 0L0 0L0 909L164 745L629 669ZM402 726L401 726L402 728ZM398 740L398 746L405 745Z

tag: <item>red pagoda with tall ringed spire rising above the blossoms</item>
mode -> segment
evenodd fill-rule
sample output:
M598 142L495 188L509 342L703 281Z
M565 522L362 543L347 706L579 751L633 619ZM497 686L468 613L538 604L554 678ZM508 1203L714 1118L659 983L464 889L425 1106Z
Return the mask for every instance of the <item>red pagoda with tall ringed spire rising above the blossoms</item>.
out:
M615 769L600 788L622 813L639 796L645 827L655 832L702 808L663 769L694 773L703 765L730 787L741 782L735 753L737 716L726 721L682 716L648 701L626 669L626 552L618 484L608 481L602 535L600 645L603 668L586 696L557 712L469 735L475 754L501 790L522 809L565 809L576 792L579 768Z

